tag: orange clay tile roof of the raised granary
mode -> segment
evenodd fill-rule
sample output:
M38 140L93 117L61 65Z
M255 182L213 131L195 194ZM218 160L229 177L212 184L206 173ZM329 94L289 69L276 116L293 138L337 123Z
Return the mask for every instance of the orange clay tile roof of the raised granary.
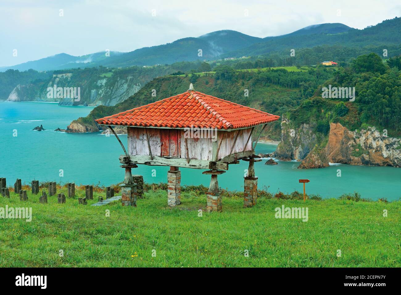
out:
M278 119L277 115L188 90L96 121L100 125L235 129Z

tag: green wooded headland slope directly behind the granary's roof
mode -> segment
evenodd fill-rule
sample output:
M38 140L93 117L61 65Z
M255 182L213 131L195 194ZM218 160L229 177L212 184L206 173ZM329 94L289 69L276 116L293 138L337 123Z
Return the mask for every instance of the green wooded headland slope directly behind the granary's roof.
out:
M219 66L213 73L159 77L114 107L96 107L87 117L73 121L72 126L79 124L85 126L87 131L97 131L99 129L94 119L183 93L189 83L193 83L196 91L280 115L310 97L319 84L331 77L333 71L332 68L324 67L316 70L306 68L297 72L286 69L236 71L228 66ZM156 96L152 96L153 89ZM69 131L77 132L72 126ZM77 130L82 132L83 129L79 126ZM279 139L280 132L279 122L269 126L271 138Z

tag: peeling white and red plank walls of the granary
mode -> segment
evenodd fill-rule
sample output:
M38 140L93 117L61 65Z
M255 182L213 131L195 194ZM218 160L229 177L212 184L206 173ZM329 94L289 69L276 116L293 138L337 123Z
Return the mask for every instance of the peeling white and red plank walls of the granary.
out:
M146 128L146 131L149 136L152 156L186 158L187 142L188 156L190 159L215 161L213 158L213 141L211 138L187 138L185 140L185 131L178 129ZM231 154L244 150L250 131L251 128L239 130L239 135ZM215 145L218 146L220 141L223 140L220 146L218 160L229 156L237 132L238 130L217 131L218 141ZM252 150L252 139L249 140L245 147L245 151L250 150ZM128 154L139 156L149 155L145 128L128 127Z

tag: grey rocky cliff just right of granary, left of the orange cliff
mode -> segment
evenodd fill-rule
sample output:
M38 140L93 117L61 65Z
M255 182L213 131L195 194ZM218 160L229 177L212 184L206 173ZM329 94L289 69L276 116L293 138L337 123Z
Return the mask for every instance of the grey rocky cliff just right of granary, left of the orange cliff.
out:
M316 144L316 135L310 125L302 124L300 128L292 129L285 115L282 117L281 131L281 141L274 156L282 161L303 160Z

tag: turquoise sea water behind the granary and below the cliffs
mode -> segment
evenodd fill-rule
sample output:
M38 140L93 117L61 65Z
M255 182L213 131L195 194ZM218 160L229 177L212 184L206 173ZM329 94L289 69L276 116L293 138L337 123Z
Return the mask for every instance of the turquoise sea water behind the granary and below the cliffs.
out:
M92 107L63 107L57 103L0 102L0 177L12 186L16 178L22 183L31 180L75 182L75 184L109 185L124 179L118 157L122 148L113 135L100 133L63 133L73 119L86 116ZM45 131L32 131L38 125ZM13 136L17 135L17 136ZM119 135L126 145L127 135ZM258 143L256 153L273 152L276 145ZM366 167L332 164L328 168L298 170L299 162L255 163L258 186L269 186L270 192L302 191L300 178L308 178L306 192L322 197L338 197L343 193L359 192L364 198L401 198L401 168ZM243 189L244 170L248 163L230 165L219 176L219 185L229 190ZM152 176L152 170L156 176ZM182 170L182 184L209 186L210 176L203 170ZM337 177L338 169L341 177ZM63 170L63 177L60 177ZM140 166L133 174L144 176L145 182L166 182L168 167ZM153 171L153 172L154 172Z

